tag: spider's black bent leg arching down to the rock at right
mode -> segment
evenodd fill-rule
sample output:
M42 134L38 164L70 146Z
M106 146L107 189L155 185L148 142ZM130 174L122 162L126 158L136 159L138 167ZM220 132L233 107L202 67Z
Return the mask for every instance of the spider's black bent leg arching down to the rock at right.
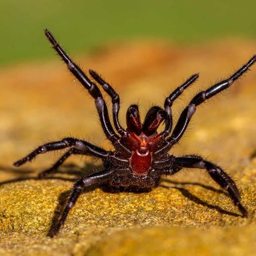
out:
M234 204L237 205L243 217L247 217L247 210L240 203L240 193L235 182L219 166L212 164L198 156L177 157L173 161L174 167L205 169L211 178L228 192Z

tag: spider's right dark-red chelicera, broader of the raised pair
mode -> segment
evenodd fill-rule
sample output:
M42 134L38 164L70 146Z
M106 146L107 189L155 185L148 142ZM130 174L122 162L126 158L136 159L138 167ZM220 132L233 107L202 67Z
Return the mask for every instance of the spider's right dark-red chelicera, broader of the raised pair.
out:
M163 109L161 109L161 107L151 107L151 109L147 112L143 123L143 132L146 134L146 136L151 136L154 132L156 132L164 118L165 112Z

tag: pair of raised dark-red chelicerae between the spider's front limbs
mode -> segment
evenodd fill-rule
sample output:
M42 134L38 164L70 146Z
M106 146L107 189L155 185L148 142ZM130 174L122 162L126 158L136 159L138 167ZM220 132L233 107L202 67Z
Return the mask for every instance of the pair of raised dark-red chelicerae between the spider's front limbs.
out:
M140 122L138 105L131 105L126 112L127 131L137 135L144 133L147 137L157 132L161 122L165 119L165 111L161 107L153 106L147 112L144 123Z

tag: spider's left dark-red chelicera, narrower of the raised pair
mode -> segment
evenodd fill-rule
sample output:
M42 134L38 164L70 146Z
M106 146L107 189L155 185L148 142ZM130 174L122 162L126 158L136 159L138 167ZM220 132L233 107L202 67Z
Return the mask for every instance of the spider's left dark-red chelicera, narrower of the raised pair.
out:
M139 135L142 132L142 123L139 117L139 108L137 105L131 105L126 112L127 131Z

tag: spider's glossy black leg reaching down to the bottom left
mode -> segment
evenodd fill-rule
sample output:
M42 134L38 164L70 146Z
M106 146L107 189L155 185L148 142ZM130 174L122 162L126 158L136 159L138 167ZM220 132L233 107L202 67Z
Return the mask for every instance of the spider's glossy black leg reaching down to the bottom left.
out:
M53 237L58 233L59 228L64 224L70 209L75 205L77 198L80 196L80 193L82 192L84 187L106 182L108 179L110 179L111 176L112 176L111 170L103 170L101 172L97 172L97 173L91 174L88 177L80 178L79 180L77 180L76 183L73 185L68 203L66 204L64 211L60 219L58 220L58 223L56 225L53 224L54 226L48 234L49 237Z

